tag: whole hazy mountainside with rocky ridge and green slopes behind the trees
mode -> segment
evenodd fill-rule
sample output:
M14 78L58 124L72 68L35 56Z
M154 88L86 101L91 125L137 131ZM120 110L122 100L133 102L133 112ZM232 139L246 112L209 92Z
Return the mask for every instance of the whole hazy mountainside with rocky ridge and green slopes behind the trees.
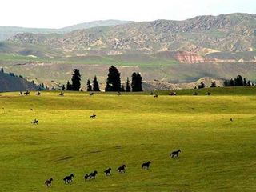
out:
M237 74L256 80L255 14L109 20L43 31L0 42L0 66L48 83L66 82L74 67L81 69L83 81L97 74L105 82L110 65L119 67L123 79L136 70L149 82L222 80Z

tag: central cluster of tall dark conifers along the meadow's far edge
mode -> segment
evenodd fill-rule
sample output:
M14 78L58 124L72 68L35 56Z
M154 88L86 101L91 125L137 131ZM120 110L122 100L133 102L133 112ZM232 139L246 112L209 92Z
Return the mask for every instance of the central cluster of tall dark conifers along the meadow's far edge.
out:
M142 76L139 73L132 74L132 82L130 83L129 78L127 78L126 86L121 83L121 74L115 66L110 66L109 73L106 79L105 91L119 91L119 92L137 92L143 91L142 89ZM81 89L81 74L80 70L74 69L71 83L68 81L66 87L63 85L62 90L74 90L79 91ZM90 82L90 79L86 83L87 91L100 91L99 83L96 75L94 76L93 82Z

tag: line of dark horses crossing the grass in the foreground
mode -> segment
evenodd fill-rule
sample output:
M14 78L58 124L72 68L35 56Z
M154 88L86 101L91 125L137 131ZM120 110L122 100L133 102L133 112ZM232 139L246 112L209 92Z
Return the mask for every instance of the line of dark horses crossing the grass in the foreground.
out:
M178 158L178 154L181 153L181 150L175 150L170 154L170 158ZM150 169L150 164L151 162L144 162L142 163L142 169L143 170L149 170ZM108 169L104 170L103 173L105 174L105 176L111 176L111 167L109 167ZM122 166L119 166L117 169L118 173L122 174L122 173L126 173L126 165L123 164ZM84 176L84 180L85 182L91 179L96 178L96 175L98 174L97 170L94 170L93 172L91 172L90 174L86 174ZM73 182L73 178L74 178L74 174L70 174L68 176L66 176L65 178L63 178L64 184L70 184L71 182ZM45 182L45 185L50 187L52 185L52 182L54 181L53 178L47 179Z

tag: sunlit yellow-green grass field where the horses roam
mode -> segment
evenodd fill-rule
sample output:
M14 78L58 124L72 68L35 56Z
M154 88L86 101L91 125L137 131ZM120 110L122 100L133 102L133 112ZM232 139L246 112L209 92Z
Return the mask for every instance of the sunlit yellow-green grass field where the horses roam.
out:
M1 191L255 191L256 89L200 91L158 98L1 93ZM171 159L178 149L180 158ZM150 170L142 170L149 160ZM126 173L118 174L123 163ZM84 182L94 170L96 179ZM74 182L64 185L70 173Z

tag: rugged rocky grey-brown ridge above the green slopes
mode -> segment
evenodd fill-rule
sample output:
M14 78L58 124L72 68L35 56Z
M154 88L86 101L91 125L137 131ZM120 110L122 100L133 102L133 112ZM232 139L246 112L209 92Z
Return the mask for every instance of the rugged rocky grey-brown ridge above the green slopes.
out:
M255 14L198 16L181 22L156 20L131 22L74 30L66 34L18 34L9 42L42 44L63 52L73 50L140 51L153 54L162 50L200 52L251 51L256 47Z

